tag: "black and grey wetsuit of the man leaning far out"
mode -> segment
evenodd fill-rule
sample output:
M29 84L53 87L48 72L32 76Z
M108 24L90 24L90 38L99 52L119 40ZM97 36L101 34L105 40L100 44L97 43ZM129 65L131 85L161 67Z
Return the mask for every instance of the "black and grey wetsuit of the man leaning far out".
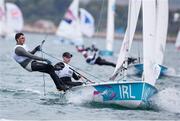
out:
M23 68L26 68L26 66L31 63L32 71L39 71L39 72L44 72L44 73L49 74L51 76L51 78L53 79L57 89L66 90L67 88L64 85L64 83L56 75L55 68L50 64L38 62L38 61L48 61L48 60L38 57L38 56L35 56L34 54L36 52L37 52L37 48L35 48L31 52L26 51L23 47L16 47L16 49L15 49L16 55L21 56L21 57L27 57L26 60L19 63Z

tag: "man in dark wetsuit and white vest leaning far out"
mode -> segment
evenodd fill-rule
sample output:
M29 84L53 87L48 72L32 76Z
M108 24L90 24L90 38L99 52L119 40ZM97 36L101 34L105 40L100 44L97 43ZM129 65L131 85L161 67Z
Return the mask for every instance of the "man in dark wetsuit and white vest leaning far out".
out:
M40 45L37 46L34 50L29 51L25 46L25 36L23 33L17 33L15 35L16 46L14 48L13 58L27 71L39 71L48 73L53 79L56 88L58 90L67 90L68 87L59 79L55 73L55 68L50 64L51 62L48 59L35 56L34 54L37 51L40 51ZM44 61L46 63L40 62Z

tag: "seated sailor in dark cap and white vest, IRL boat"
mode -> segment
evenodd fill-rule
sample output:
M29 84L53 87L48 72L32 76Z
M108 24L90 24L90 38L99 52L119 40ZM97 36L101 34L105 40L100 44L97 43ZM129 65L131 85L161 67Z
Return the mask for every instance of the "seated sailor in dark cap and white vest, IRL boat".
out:
M66 84L68 87L73 87L73 86L79 86L82 85L82 82L73 82L71 78L75 80L79 80L81 78L80 75L77 75L72 67L69 64L72 54L69 52L64 52L63 55L63 62L59 62L54 65L55 68L59 68L59 70L55 71L56 74L59 76L59 78L63 81L64 84Z

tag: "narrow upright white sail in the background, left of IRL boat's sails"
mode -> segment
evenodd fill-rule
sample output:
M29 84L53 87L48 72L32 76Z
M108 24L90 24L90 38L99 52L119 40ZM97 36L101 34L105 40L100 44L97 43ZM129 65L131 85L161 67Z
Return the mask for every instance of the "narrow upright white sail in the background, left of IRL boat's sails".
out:
M106 49L113 51L115 0L108 0Z

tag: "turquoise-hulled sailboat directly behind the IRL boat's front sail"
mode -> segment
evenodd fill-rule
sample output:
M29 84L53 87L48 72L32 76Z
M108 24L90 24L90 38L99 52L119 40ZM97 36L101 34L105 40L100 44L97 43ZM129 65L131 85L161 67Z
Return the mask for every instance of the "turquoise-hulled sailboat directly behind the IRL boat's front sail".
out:
M163 66L163 58L164 58L164 52L165 52L165 46L166 46L166 38L167 38L167 29L168 29L168 3L166 0L159 0L157 4L157 10L155 13L155 26L156 28L152 30L155 33L154 40L156 40L153 43L155 49L153 50L154 61L160 66L160 76L164 75L171 75L171 73L174 73L173 69L170 69L168 67ZM149 24L150 25L150 24ZM150 25L151 26L151 25ZM149 29L149 28L148 28ZM151 33L149 33L151 34ZM149 40L150 41L150 40ZM149 47L149 46L148 46ZM147 47L147 48L148 48ZM150 48L149 48L150 49ZM151 56L153 56L151 55ZM150 56L149 54L147 56ZM134 67L134 72L136 75L141 76L143 73L143 64L134 64L132 67Z

